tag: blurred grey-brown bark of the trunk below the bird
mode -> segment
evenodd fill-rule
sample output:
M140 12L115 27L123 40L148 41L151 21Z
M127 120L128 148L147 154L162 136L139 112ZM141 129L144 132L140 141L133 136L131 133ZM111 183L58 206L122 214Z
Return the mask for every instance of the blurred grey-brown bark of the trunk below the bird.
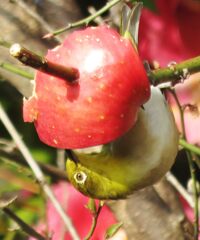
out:
M176 191L166 181L109 204L131 240L192 240Z

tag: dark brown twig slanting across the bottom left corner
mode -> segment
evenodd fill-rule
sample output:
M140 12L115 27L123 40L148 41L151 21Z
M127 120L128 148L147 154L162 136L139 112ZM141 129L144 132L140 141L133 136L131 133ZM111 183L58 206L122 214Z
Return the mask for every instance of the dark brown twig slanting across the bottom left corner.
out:
M36 232L32 227L30 227L27 223L25 223L21 218L19 218L13 211L11 211L8 207L2 208L2 211L12 218L20 227L21 229L27 233L28 235L38 239L38 240L46 240L41 234Z

